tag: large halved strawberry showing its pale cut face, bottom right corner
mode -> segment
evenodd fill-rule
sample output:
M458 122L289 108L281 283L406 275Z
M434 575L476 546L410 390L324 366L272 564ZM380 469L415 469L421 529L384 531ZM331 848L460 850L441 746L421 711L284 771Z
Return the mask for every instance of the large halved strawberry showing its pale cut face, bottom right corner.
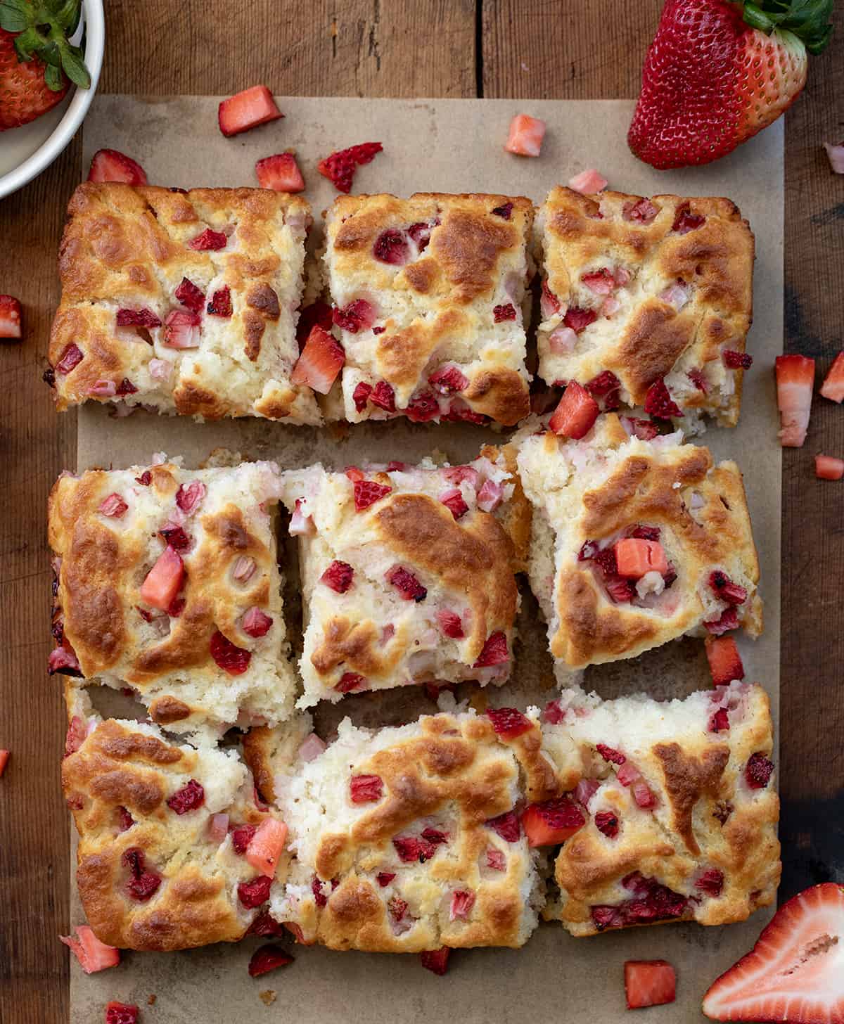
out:
M824 882L784 903L756 945L704 996L717 1021L844 1020L844 886Z

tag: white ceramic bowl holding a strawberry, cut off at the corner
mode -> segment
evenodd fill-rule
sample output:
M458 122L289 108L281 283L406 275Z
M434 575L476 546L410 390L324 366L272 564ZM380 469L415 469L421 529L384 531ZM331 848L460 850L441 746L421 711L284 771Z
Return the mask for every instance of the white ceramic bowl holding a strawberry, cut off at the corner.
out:
M96 92L106 22L102 0L82 0L82 18L74 42L85 30L85 65L91 76L90 89L71 88L68 95L43 117L20 128L0 132L0 199L17 191L49 167L76 134Z

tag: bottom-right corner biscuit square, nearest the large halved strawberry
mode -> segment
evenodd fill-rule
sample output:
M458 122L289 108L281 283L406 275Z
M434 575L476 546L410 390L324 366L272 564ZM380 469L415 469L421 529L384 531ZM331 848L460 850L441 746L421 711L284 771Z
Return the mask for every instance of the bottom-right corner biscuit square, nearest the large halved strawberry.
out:
M726 925L774 902L779 804L760 686L666 702L567 691L543 718L545 750L587 811L556 858L546 918L581 936Z

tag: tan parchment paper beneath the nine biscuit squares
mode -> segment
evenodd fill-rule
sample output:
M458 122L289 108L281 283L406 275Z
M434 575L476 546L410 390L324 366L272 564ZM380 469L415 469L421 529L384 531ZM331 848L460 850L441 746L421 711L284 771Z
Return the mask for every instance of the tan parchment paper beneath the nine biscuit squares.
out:
M357 191L493 191L541 202L550 187L587 167L597 167L609 187L642 196L674 191L727 196L756 233L755 321L748 342L754 366L745 376L740 426L711 427L702 438L716 458L734 458L745 472L762 566L765 632L756 643L740 639L748 677L768 690L774 715L779 687L780 449L772 364L783 349L783 122L718 163L658 172L639 163L625 136L628 101L331 99L280 98L283 121L231 139L217 130L218 99L181 96L143 99L99 95L85 122L85 166L108 146L137 159L151 183L192 187L253 185L256 159L295 148L314 213L336 193L316 172L320 158L365 140L384 153L358 170ZM538 160L504 153L510 118L520 112L546 121ZM245 457L273 458L283 467L322 460L342 467L358 461L413 462L440 453L452 462L473 458L484 441L505 435L468 425L364 424L341 432L288 427L265 420L196 424L143 412L112 419L91 404L79 413L78 468L122 467L145 462L154 452L184 456L195 466L217 446ZM295 602L290 602L293 609ZM294 613L295 618L295 613ZM295 621L291 624L295 632ZM551 663L536 604L523 595L522 643L516 648L513 683L488 687L496 703L523 705L550 695ZM644 689L660 698L710 685L700 640L681 640L635 660L587 671L587 689L611 697ZM342 702L341 714L376 724L406 719L432 706L403 691ZM337 718L321 715L330 729ZM170 954L125 953L118 970L88 977L74 961L71 1020L94 1024L112 998L138 1002L144 1024L235 1024L245 1019L324 1024L367 1021L410 1024L456 1020L501 1024L534 1020L627 1020L622 965L625 959L669 959L677 969L677 1001L671 1009L639 1011L637 1021L701 1021L708 984L755 941L770 915L725 928L692 924L633 929L574 939L554 924L542 925L521 950L458 950L446 978L423 970L415 955L335 953L295 947L296 963L251 979L247 964L260 940ZM83 915L75 886L72 916ZM277 992L265 1004L259 993ZM154 1006L147 996L155 994ZM266 996L268 999L269 997Z

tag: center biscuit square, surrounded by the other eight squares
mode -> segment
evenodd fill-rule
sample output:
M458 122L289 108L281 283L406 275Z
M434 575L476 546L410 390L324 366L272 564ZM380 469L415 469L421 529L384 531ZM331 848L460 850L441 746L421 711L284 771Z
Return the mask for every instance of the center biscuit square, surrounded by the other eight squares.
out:
M497 518L514 489L505 468L481 457L284 476L305 622L299 707L507 679L519 595L513 542Z

